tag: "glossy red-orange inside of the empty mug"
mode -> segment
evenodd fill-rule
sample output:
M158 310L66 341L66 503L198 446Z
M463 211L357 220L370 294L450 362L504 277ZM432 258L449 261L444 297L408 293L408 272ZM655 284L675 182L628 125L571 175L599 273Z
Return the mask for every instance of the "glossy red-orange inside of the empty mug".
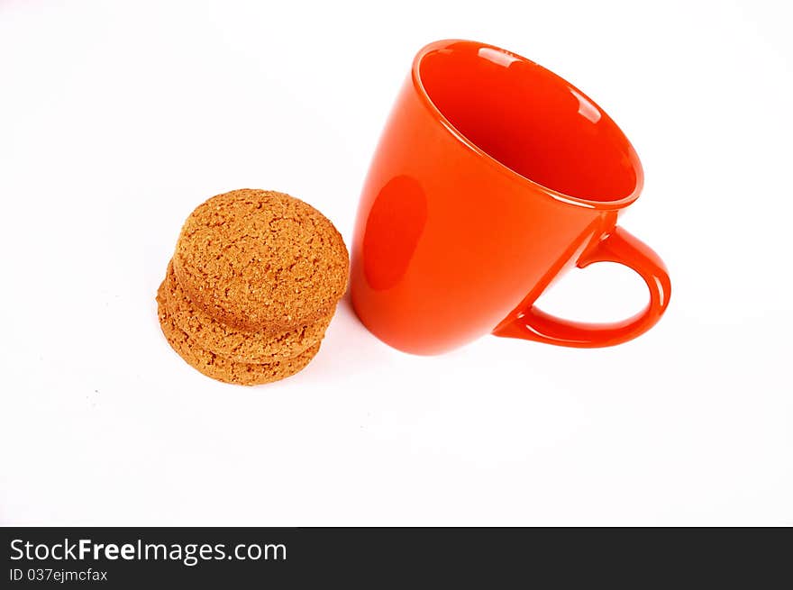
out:
M424 92L460 135L517 174L598 202L640 188L641 165L624 133L551 71L473 41L430 46L416 65Z

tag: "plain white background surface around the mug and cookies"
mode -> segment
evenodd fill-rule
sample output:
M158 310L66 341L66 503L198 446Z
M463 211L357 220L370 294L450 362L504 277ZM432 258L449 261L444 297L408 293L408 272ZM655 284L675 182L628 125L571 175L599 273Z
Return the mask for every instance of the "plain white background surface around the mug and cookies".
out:
M781 2L0 0L0 523L793 524L791 52ZM613 349L389 349L344 303L296 377L189 368L154 295L187 213L299 196L350 243L415 51L567 77L643 159L661 323ZM641 308L615 265L544 308Z

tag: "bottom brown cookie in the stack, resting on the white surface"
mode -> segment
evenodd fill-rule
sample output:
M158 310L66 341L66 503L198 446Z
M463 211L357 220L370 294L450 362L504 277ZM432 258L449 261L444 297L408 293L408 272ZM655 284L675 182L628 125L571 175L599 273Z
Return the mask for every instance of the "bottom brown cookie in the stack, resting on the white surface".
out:
M160 328L172 349L184 359L188 365L196 368L206 377L212 377L224 383L242 386L256 386L264 383L278 381L285 377L295 375L298 371L314 359L319 350L319 343L294 359L281 359L269 364L241 363L226 359L196 346L184 331L179 330L173 317L168 313L168 290L165 281L157 291L157 309L160 316Z

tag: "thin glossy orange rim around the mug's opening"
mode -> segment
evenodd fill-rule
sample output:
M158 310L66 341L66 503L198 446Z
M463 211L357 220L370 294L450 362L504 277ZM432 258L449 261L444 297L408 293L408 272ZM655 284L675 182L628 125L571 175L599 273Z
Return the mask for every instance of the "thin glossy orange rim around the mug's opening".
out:
M633 165L633 170L636 174L635 186L633 186L633 191L630 193L630 195L626 195L619 199L610 199L607 201L597 201L594 199L587 199L579 196L567 195L566 193L562 193L561 191L553 189L550 186L542 185L536 180L533 180L530 177L526 177L520 172L516 171L515 169L506 166L506 164L503 164L502 162L495 159L487 151L479 148L479 146L476 143L470 141L462 132L460 132L460 130L458 130L454 126L453 123L451 123L451 121L446 117L446 115L444 115L441 112L438 106L433 103L433 99L430 98L430 95L427 93L427 90L424 87L424 82L422 81L421 75L419 73L419 68L421 66L424 57L426 57L433 51L448 49L452 44L458 44L458 43L465 43L467 45L474 46L479 49L487 48L490 50L496 50L506 54L511 58L519 59L537 68L541 68L542 71L545 74L549 75L554 82L567 86L568 88L579 93L579 95L584 96L590 103L595 105L597 107L597 110L603 116L605 116L607 120L611 124L613 124L617 130L619 130L619 132L622 133L625 142L627 144L628 155L631 159L631 164ZM619 209L624 209L629 204L632 204L633 201L635 201L637 198L639 198L639 195L641 194L644 185L644 171L642 168L642 162L639 160L639 156L636 153L636 150L633 149L633 144L631 144L631 141L628 140L627 136L624 134L622 129L620 129L619 125L615 123L614 119L612 119L608 115L608 113L606 113L606 111L604 111L600 107L599 104L597 104L595 101L589 98L589 96L586 95L584 92L581 92L581 90L579 90L578 87L570 84L570 82L568 82L558 74L553 73L550 69L543 68L540 64L532 61L531 59L524 58L524 56L522 55L518 55L516 53L513 53L512 51L502 49L500 47L497 47L496 45L490 45L489 43L483 43L481 41L469 41L466 39L444 39L441 41L433 41L432 43L428 43L427 45L424 45L424 47L421 50L419 50L418 53L416 53L415 58L413 59L413 65L411 67L411 78L413 81L413 86L416 90L416 94L421 99L421 103L424 104L424 107L427 108L430 111L430 113L432 113L442 123L443 127L446 128L446 131L451 133L452 137L454 137L457 141L459 141L464 147L475 152L476 154L479 155L479 157L486 160L491 167L497 168L500 172L506 173L508 176L515 178L515 180L527 182L532 186L535 186L544 195L548 195L556 201L561 201L562 203L572 204L579 207L585 207L588 209L597 209L601 211L615 211Z

